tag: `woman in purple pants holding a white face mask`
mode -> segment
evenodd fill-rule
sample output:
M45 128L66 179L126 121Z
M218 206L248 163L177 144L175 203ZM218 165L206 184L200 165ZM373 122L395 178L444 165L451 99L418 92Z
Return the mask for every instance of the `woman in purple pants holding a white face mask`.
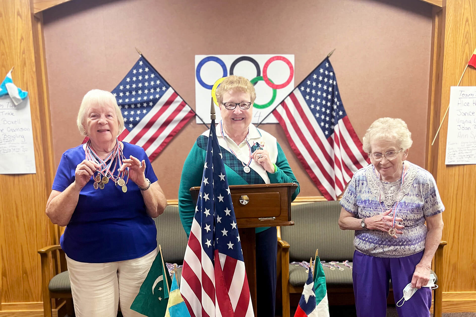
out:
M431 284L431 259L445 210L435 179L406 161L412 140L403 120L376 120L363 143L371 164L352 177L340 201L339 218L342 230L355 230L357 316L386 316L391 279L396 302L407 294L397 303L398 316L429 317L431 290L424 286Z

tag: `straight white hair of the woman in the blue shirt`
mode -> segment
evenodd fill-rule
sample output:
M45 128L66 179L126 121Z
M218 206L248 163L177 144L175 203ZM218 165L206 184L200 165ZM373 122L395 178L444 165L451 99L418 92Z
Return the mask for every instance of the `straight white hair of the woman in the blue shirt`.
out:
M92 104L99 105L99 106L113 106L116 110L116 116L118 117L118 124L119 130L118 133L120 134L122 130L124 130L124 118L122 117L122 113L119 109L118 103L116 101L116 97L111 94L109 91L100 90L100 89L92 89L89 90L86 95L83 97L83 101L81 101L81 106L79 106L78 118L76 119L76 123L78 125L79 133L82 135L86 135L86 130L84 129L84 123L86 120L86 114L88 112L89 106Z

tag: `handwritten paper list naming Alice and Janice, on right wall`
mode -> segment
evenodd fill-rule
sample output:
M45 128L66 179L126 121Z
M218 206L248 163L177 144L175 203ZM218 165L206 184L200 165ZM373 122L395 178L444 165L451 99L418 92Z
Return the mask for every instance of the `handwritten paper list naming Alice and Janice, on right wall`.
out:
M476 164L476 87L451 87L449 102L445 163Z

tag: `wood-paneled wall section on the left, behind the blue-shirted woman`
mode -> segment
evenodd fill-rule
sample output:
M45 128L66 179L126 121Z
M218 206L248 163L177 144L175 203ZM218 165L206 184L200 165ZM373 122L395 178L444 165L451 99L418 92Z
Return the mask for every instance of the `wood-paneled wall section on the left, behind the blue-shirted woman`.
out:
M37 171L0 175L0 316L38 308L37 250L58 243L55 226L45 215L54 165L41 34L41 17L33 17L30 0L0 1L0 80L14 66L13 81L28 91Z

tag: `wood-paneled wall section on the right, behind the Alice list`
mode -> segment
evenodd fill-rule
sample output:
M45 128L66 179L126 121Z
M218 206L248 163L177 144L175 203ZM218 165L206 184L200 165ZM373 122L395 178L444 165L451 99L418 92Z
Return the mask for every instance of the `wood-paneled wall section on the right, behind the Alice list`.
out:
M433 173L446 206L444 307L476 311L476 165L446 165L448 117L433 146L431 141L456 86L476 48L476 2L446 0L434 11L432 71L428 111L426 168ZM468 67L461 86L476 86L476 70ZM445 305L446 304L446 305Z

